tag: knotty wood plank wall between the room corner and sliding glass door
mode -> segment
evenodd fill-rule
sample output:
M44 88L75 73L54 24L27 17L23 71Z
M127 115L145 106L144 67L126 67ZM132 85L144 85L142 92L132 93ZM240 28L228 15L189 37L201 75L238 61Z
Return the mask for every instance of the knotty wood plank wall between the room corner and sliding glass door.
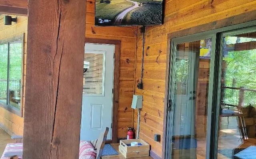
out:
M241 0L234 3L234 0L166 0L164 9L164 25L146 27L144 89L135 87L136 94L143 95L140 138L147 141L158 156L162 156L162 141L154 141L154 134L163 136L167 34L256 10L256 1ZM140 33L136 54L135 85L141 76ZM137 127L137 112L134 115L134 127Z

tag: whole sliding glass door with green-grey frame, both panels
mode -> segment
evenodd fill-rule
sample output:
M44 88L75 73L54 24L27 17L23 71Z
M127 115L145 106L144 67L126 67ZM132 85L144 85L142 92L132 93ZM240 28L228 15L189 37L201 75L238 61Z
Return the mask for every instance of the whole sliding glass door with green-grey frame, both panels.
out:
M171 41L166 159L256 158L256 27L223 30Z

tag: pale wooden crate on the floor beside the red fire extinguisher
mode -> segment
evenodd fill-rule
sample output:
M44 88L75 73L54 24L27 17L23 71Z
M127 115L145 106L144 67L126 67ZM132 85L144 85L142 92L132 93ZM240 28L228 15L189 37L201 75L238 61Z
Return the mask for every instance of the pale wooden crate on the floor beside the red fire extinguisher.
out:
M142 145L128 146L131 142L138 142ZM149 156L149 144L142 139L120 140L119 151L125 158Z

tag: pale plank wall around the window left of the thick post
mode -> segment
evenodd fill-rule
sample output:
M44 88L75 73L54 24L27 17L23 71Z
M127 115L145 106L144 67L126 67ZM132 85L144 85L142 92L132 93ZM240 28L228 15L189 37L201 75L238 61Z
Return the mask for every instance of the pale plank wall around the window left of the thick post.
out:
M14 16L13 16L14 17ZM0 39L9 38L11 36L24 33L24 65L23 70L26 70L26 46L27 46L27 24L28 18L25 16L17 16L17 23L13 25L4 25L4 14L0 15ZM26 73L23 72L23 81L25 81ZM25 83L25 82L24 82ZM25 85L23 85L23 92ZM25 94L22 94L22 100L24 101ZM22 104L24 111L24 102ZM0 107L0 127L9 134L22 135L23 134L23 117L20 117L6 109Z

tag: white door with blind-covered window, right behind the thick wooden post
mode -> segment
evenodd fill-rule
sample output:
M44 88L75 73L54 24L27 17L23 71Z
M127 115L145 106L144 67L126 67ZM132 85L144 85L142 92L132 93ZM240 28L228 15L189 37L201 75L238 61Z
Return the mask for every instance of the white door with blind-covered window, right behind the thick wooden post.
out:
M85 44L81 140L97 139L106 127L112 138L113 74L114 45Z

